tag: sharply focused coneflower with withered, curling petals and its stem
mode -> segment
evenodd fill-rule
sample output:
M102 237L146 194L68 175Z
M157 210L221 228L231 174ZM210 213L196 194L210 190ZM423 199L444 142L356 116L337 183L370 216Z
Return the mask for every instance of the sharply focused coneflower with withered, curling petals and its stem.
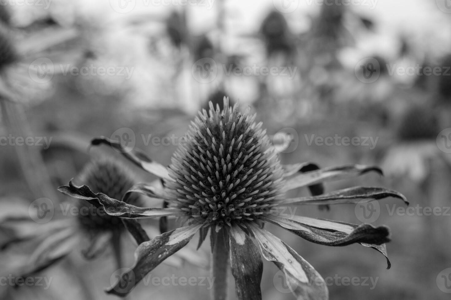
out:
M123 148L105 137L92 140L94 145L105 143L120 150L135 164L163 179L163 188L137 184L129 192L161 198L167 207L133 206L106 194L94 193L86 185L78 187L72 181L60 187L60 192L84 199L112 216L125 219L176 216L184 221L183 227L140 244L132 269L122 274L108 293L126 296L147 273L186 246L194 234L200 233L200 245L210 231L212 275L216 284L214 299L226 298L228 265L235 278L238 298L261 299L259 252L283 271L297 299L328 299L321 275L290 246L264 229L263 224L267 222L311 242L327 246L360 243L387 257L385 243L390 239L386 226L354 225L298 215L287 218L279 209L292 204L356 203L361 199L385 197L405 201L396 191L376 187L346 188L318 195L322 191L317 184L323 181L380 170L359 165L327 169L309 163L283 166L266 131L261 129L262 123L256 124L254 119L249 109L241 114L238 104L233 109L229 107L226 98L222 111L210 103L209 114L206 110L199 112L186 134L186 143L180 144L168 168L138 149ZM303 186L311 187L317 195L284 197L286 191Z

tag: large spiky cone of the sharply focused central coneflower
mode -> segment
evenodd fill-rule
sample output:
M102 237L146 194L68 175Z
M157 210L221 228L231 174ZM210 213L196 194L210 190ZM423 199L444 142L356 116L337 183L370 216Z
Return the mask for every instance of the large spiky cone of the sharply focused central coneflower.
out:
M211 103L210 103L211 104ZM202 224L231 226L268 215L280 193L276 149L255 115L238 105L221 112L210 105L192 122L169 167L170 206Z

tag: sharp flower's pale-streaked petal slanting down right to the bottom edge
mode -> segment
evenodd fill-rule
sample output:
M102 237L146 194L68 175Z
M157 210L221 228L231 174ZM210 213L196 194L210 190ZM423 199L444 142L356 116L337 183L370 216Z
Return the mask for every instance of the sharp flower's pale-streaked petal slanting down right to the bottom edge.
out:
M302 300L328 300L329 291L326 282L313 267L297 254L290 246L256 224L250 224L262 255L273 261L285 274L285 282L290 291Z

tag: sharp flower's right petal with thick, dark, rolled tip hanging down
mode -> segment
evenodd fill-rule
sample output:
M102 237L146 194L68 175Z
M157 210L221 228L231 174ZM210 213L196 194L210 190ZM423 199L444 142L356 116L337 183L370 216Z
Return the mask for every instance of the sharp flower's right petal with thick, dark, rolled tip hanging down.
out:
M370 224L357 225L303 216L285 219L272 215L268 216L267 220L317 244L345 246L352 243L360 243L365 247L371 247L385 256L387 269L391 267L385 246L385 242L389 241L389 232L385 226L373 227Z

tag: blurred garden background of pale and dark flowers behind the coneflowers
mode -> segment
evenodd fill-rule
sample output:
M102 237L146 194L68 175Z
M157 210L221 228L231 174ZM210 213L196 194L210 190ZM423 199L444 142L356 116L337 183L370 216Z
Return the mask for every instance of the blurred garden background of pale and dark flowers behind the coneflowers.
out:
M330 279L330 299L449 299L448 0L0 0L0 200L58 203L66 199L56 187L93 152L123 160L106 147L88 152L95 136L124 139L168 165L197 111L225 95L257 112L285 164L384 170L327 183L327 191L384 186L414 208L396 210L393 199L380 201L376 215L359 205L295 207L298 215L388 225L389 270L369 248L320 246L268 226L324 278L340 278ZM129 166L140 180L155 179ZM308 190L288 196L300 195ZM128 248L124 266L133 264ZM74 251L70 260L43 272L50 288L2 285L0 295L114 297L103 292L117 269L108 254L87 262ZM264 266L263 299L294 299L276 266ZM152 271L170 274L208 269ZM129 299L207 299L207 287L140 284Z

